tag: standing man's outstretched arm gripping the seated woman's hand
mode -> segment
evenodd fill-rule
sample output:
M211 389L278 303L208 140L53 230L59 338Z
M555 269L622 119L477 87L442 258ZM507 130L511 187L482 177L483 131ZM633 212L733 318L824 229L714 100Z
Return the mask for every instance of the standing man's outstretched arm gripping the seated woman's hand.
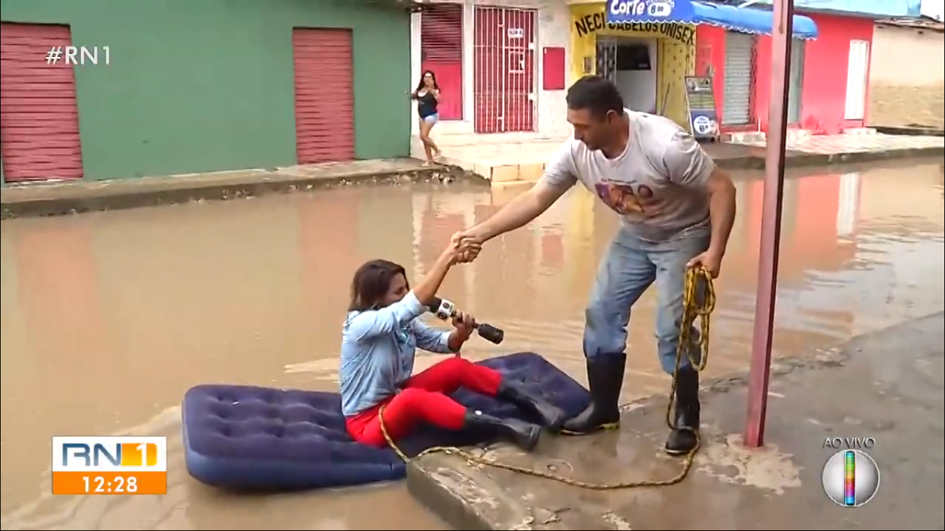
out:
M544 168L541 180L530 190L515 197L489 219L467 229L456 232L453 236L455 245L463 238L473 238L478 242L514 231L548 210L577 182L576 168L571 155L570 144L561 146L554 158Z

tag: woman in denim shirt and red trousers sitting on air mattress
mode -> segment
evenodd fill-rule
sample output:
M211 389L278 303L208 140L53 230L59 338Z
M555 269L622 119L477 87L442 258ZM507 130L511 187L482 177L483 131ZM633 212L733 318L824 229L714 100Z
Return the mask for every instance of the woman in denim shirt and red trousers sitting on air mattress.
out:
M458 355L413 374L417 349L458 353L470 338L475 321L461 314L455 329L443 332L418 318L437 294L457 250L451 244L423 280L410 289L403 266L372 260L358 268L352 282L352 302L341 341L341 408L354 440L384 447L380 410L384 407L387 434L397 440L411 433L418 422L440 428L486 430L524 450L538 443L539 426L504 420L467 409L447 395L460 386L514 403L537 414L546 427L557 430L564 413L521 385L509 382L491 368L474 365Z

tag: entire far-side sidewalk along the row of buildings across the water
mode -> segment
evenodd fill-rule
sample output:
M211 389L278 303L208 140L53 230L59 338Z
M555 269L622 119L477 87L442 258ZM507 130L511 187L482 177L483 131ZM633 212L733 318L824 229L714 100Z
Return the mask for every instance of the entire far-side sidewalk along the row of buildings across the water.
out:
M842 135L840 135L842 136ZM871 163L876 161L941 157L945 141L941 137L902 136L885 138L841 139L836 145L832 137L816 139L809 150L789 150L787 167L814 167L831 164ZM854 142L856 146L852 146ZM826 144L824 144L826 143ZM832 144L833 143L833 144ZM516 147L515 156L533 163L513 163L463 169L460 165L422 167L416 159L357 161L291 166L272 170L236 170L209 174L187 174L169 177L146 177L127 180L63 181L9 185L0 190L0 218L72 214L101 210L129 209L184 203L196 200L219 200L259 196L324 186L352 183L403 183L455 179L492 183L534 182L541 177L544 162L560 143ZM764 146L706 144L706 150L722 168L763 169ZM485 146L488 149L489 146ZM495 147L495 146L492 146ZM542 151L539 147L543 147ZM859 149L859 150L857 150ZM501 149L500 149L501 151ZM452 164L447 160L448 164ZM506 172L506 173L502 173ZM485 179L485 180L484 180Z

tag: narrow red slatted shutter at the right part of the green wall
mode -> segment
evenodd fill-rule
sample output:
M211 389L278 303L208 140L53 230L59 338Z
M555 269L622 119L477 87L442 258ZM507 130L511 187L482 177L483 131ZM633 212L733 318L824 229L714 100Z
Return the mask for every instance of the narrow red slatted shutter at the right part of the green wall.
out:
M354 159L352 32L292 31L300 164Z

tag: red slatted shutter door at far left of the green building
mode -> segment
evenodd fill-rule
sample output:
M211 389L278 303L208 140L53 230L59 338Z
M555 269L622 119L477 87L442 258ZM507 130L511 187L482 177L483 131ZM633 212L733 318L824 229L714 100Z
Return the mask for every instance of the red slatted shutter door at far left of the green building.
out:
M64 60L44 59L51 48L71 43L69 26L0 25L0 152L7 182L82 177L76 76Z

